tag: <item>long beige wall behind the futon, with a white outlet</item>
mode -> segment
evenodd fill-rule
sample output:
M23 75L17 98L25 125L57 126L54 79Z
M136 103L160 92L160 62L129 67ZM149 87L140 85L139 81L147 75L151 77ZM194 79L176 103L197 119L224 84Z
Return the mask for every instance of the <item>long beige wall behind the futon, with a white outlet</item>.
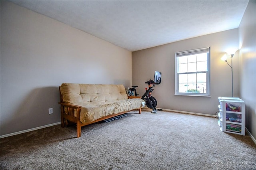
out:
M1 1L1 135L60 122L63 82L128 87L131 79L130 51Z

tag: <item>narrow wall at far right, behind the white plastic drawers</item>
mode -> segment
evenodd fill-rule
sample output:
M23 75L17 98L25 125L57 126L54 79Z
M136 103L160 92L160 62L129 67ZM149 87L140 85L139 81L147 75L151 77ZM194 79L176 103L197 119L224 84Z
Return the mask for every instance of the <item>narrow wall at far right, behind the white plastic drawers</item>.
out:
M246 128L256 138L256 1L249 1L239 26L240 97L246 104Z

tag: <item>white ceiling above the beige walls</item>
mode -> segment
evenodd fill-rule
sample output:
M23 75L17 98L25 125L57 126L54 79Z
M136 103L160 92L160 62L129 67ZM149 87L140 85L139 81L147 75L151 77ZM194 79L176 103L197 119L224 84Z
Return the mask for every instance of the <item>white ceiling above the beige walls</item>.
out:
M248 0L12 1L129 51L238 28Z

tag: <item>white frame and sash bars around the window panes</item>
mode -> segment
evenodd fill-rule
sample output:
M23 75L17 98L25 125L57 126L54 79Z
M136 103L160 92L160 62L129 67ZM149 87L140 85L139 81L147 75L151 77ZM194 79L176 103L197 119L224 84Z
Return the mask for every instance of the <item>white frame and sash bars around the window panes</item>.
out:
M200 54L207 52L207 67L206 71L192 71L192 72L182 72L178 73L178 57ZM178 56L177 56L178 55ZM196 61L198 62L198 61ZM190 73L206 73L206 93L180 93L179 92L179 75L180 74L190 74ZM210 47L204 47L199 49L192 49L187 51L175 52L175 95L185 95L185 96L206 96L210 97Z

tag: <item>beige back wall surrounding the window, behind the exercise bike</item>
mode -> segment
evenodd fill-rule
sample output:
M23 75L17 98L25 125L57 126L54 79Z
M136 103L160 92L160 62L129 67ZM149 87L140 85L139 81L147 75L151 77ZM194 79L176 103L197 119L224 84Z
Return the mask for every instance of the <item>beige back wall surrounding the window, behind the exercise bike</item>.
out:
M156 85L153 91L158 108L215 115L218 111L218 97L232 95L231 68L220 58L228 49L238 49L238 44L238 29L233 29L132 52L132 84L139 86L139 94L142 95L147 85L144 82L154 78L155 70L160 71L162 83ZM211 97L175 96L174 53L209 46ZM236 78L238 55L237 51L233 59L234 96L239 93L239 80Z

